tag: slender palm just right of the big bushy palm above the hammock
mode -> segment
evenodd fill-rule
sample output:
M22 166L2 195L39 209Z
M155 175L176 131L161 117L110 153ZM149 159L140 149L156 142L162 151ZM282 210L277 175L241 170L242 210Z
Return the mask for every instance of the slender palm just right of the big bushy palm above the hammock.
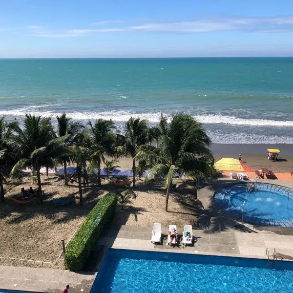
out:
M58 122L58 128L57 128L57 136L61 137L64 135L67 135L68 138L65 140L66 146L70 146L73 143L73 140L75 139L76 135L79 134L81 128L83 127L80 122L72 122L71 118L66 116L66 113L64 112L61 116L56 116L57 122ZM65 185L68 185L67 182L67 162L70 162L70 157L65 156L64 158L61 158L63 166L64 166L64 182Z

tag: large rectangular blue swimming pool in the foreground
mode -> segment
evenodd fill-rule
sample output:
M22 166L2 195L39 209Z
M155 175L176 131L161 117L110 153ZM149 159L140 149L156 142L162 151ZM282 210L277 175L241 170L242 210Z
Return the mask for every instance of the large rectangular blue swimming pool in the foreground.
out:
M110 249L90 293L292 293L293 262Z

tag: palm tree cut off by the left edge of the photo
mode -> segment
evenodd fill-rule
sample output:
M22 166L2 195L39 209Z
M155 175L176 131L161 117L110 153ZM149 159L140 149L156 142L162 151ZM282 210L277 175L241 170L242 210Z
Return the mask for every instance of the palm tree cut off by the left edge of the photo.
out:
M9 173L16 162L17 153L13 151L11 137L16 123L12 122L6 125L4 117L0 118L0 197L4 201L3 181L9 176Z

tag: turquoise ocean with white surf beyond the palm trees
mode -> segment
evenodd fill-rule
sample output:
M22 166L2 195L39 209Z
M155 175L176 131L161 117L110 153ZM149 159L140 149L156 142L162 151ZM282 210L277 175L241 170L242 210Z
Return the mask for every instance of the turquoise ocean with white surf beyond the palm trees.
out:
M0 116L84 123L184 111L213 143L293 143L293 58L0 59Z

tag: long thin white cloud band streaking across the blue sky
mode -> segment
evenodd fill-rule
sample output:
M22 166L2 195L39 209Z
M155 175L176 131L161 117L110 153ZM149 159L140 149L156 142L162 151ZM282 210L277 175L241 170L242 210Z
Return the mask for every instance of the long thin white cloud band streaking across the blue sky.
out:
M100 21L98 24L120 23L116 21ZM31 26L35 29L38 26ZM39 28L39 27L38 27ZM37 29L36 29L37 30ZM248 31L264 33L284 33L293 32L293 16L278 16L270 18L217 18L200 19L195 21L176 21L162 23L142 23L128 26L105 27L99 29L68 29L55 30L50 32L38 32L35 36L48 38L68 38L78 37L93 33L108 33L121 31L150 31L150 32L170 32L170 33L205 33L214 31Z

